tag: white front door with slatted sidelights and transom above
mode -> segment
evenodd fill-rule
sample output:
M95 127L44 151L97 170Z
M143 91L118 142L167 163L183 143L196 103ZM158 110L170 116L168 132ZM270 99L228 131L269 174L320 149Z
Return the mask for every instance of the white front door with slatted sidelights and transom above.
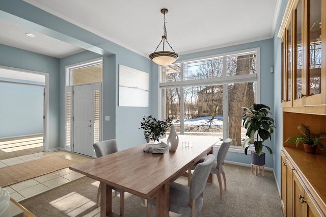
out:
M102 132L102 59L66 67L65 150L95 156Z

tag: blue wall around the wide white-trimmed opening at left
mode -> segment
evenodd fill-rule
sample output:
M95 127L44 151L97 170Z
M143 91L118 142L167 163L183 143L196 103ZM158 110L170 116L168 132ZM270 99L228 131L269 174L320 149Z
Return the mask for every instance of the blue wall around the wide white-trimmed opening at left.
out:
M49 74L49 148L58 147L59 59L0 44L0 65Z

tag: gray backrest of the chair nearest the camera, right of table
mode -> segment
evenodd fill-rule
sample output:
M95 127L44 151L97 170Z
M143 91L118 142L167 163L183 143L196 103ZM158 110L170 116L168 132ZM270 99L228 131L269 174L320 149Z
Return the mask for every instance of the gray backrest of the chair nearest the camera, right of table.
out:
M191 199L197 199L204 192L208 175L212 169L214 160L215 156L213 154L209 154L205 158L204 162L201 162L196 166L190 181L189 196Z

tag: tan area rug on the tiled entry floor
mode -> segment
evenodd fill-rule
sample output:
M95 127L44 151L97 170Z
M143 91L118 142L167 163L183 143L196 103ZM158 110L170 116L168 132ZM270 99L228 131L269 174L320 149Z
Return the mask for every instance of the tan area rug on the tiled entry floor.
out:
M77 164L77 162L59 156L49 156L0 168L0 186L5 187L32 179L74 164Z

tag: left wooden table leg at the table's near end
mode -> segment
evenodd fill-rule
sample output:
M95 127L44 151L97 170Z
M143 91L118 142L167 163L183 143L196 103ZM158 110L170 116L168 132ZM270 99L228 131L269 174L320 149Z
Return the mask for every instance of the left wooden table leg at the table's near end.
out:
M101 183L101 217L112 214L112 186Z

